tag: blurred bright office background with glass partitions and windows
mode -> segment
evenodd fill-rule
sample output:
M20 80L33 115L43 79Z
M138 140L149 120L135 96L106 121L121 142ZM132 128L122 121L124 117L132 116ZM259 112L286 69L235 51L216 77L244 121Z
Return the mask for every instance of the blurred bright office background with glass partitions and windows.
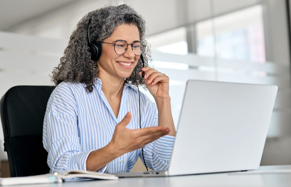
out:
M52 85L49 74L77 22L125 3L145 18L151 65L170 77L176 128L188 79L278 85L261 165L291 164L289 0L0 2L1 96L15 85ZM2 133L0 159L7 159Z

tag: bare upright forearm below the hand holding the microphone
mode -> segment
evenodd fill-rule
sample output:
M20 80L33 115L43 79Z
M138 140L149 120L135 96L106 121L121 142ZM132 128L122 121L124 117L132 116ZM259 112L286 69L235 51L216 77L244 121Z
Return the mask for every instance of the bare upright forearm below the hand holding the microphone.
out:
M176 130L171 110L171 98L156 99L158 109L158 125L168 127L171 131L168 135L175 136Z

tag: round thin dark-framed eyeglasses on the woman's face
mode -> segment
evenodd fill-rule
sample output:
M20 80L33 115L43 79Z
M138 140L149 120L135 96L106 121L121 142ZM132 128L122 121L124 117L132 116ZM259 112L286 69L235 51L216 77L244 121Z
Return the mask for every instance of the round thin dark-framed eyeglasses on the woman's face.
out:
M107 43L107 42L101 42L101 43ZM142 41L136 41L134 43L127 43L123 40L118 40L115 43L109 43L114 45L114 51L118 55L123 55L128 48L128 45L131 45L131 49L136 56L140 56L145 51L145 43Z

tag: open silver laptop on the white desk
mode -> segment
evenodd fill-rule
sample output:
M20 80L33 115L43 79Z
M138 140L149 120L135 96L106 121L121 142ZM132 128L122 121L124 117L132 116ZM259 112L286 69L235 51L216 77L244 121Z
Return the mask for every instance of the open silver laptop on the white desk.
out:
M276 85L187 81L168 170L114 174L149 177L257 169L277 90Z

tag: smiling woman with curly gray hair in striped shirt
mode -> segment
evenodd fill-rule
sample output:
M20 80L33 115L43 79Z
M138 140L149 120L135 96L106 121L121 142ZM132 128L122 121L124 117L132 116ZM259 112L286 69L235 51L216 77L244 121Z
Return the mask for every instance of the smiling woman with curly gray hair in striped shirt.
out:
M127 5L99 8L78 23L52 72L57 86L43 125L51 172L127 172L139 156L151 169L167 169L175 136L169 78L142 68L141 55L145 66L150 58L144 39L145 21ZM136 84L157 105L140 93L139 106Z

